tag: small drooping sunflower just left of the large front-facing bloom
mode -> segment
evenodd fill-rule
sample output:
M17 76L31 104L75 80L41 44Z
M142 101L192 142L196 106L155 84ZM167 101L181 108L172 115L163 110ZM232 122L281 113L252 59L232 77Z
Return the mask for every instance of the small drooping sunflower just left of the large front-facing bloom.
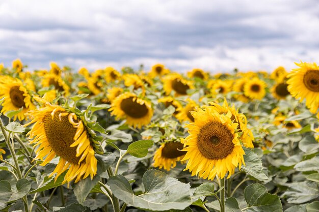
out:
M171 170L176 166L176 162L180 161L186 154L184 151L180 151L182 148L183 144L180 142L163 143L154 154L153 167Z

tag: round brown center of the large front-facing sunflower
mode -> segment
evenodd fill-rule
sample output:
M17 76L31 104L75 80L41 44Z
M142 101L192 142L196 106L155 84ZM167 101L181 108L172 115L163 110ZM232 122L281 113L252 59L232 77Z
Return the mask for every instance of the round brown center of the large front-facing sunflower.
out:
M197 135L199 152L207 159L218 160L232 153L234 144L230 130L219 122L204 125Z

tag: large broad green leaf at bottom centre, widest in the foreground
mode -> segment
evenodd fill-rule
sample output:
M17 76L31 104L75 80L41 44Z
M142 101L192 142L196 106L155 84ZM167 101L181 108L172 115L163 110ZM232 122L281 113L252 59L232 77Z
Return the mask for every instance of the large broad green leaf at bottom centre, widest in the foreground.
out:
M108 185L112 193L127 205L144 210L182 210L192 204L189 184L155 169L147 170L143 175L145 191L139 196L134 194L128 180L122 175L111 176Z

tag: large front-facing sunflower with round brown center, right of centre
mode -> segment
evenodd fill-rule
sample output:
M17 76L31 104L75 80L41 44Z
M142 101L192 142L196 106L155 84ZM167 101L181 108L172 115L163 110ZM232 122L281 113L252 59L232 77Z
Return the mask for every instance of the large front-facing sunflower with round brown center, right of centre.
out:
M194 123L188 124L190 135L181 139L188 160L185 170L204 179L213 180L216 175L227 178L235 168L241 169L244 149L238 139L238 123L232 123L231 112L219 114L213 106L204 106L192 112Z

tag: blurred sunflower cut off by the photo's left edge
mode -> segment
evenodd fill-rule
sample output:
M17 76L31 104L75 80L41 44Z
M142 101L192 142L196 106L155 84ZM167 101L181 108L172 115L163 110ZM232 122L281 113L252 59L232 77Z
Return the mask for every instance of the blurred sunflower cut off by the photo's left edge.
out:
M2 113L11 110L22 110L14 115L13 120L17 118L24 120L25 112L35 109L35 105L31 102L31 96L28 90L23 86L23 83L17 79L9 76L0 77L0 98L5 98L2 103Z

